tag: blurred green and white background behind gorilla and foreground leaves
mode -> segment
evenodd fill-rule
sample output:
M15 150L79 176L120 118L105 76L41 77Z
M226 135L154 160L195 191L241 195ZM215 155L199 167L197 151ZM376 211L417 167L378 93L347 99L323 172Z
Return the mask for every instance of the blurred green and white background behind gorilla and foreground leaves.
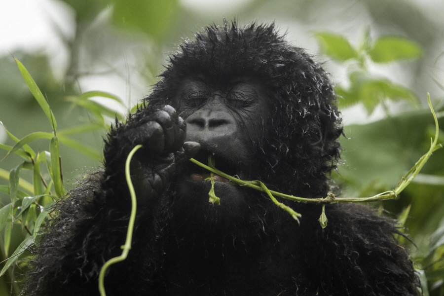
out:
M350 94L356 83L351 74L362 65L332 58L320 33L340 35L361 51L381 36L405 37L421 49L414 59L370 61L365 69L360 68L371 79L386 79L408 95L379 96L370 105L365 98L353 104L339 102L345 125L344 150L333 180L344 196L370 196L394 188L428 150L435 131L427 92L444 127L443 0L1 1L0 121L19 139L32 132L51 131L15 57L47 98L58 130L69 130L66 134L75 141L60 148L65 186L72 188L76 179L100 166L106 127L114 115L124 117L149 94L168 54L182 40L192 38L193 32L213 23L220 25L224 18L240 24L275 22L287 40L324 63L344 98L343 90ZM106 92L119 100L90 95L86 106L79 95L88 91ZM84 126L89 128L82 129ZM0 144L14 145L2 126ZM49 149L43 140L31 147ZM443 150L432 155L398 200L374 204L405 222L404 231L413 243L401 241L428 280L425 295L436 296L444 295ZM6 152L0 150L0 158ZM8 184L9 171L18 163L17 155L0 162L0 185ZM21 177L32 181L32 171L23 171ZM0 192L0 208L7 202L10 197ZM13 236L12 250L22 240L19 234ZM0 295L8 295L1 289L10 291L1 288L9 287L6 282L0 278Z

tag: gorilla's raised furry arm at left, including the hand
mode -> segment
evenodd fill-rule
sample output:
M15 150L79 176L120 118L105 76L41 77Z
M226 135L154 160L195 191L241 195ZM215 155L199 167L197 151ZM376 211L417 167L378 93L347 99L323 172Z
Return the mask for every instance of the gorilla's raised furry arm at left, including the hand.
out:
M37 258L26 295L98 295L100 269L108 259L121 254L126 238L131 202L124 163L138 144L144 147L131 163L138 200L132 249L128 259L111 266L105 284L115 293L122 286L119 283L139 282L134 276L147 281L160 251L153 248L157 201L177 163L192 157L199 148L196 143L184 144L184 139L185 123L170 106L144 107L127 123L116 122L105 143L104 171L91 175L56 205L60 215L34 250ZM144 252L151 256L143 256ZM151 268L142 268L143 264ZM120 268L114 268L118 265ZM130 292L126 287L124 293Z

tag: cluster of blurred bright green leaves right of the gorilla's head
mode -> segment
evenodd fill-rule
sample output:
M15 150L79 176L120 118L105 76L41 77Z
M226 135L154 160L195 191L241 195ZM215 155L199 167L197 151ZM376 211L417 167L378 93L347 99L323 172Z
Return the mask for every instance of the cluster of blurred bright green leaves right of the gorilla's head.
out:
M386 99L416 101L414 93L407 87L377 77L368 70L370 62L389 63L420 57L422 49L415 42L396 36L383 36L372 42L369 32L366 32L362 44L354 48L344 36L338 34L317 33L315 37L332 60L353 61L348 66L350 87L335 87L340 108L362 103L371 114L380 103L385 104Z

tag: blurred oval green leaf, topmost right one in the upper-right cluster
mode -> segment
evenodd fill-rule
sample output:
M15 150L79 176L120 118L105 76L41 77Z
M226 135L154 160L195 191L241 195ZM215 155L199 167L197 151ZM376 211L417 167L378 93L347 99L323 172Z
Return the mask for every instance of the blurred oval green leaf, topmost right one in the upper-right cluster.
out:
M407 38L384 36L374 42L369 54L375 63L389 63L419 58L422 55L422 49L416 42Z

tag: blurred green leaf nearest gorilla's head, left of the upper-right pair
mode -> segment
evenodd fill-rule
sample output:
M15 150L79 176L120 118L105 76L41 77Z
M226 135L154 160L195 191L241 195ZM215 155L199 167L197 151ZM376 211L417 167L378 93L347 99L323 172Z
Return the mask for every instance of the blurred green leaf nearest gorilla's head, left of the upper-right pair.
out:
M314 37L320 43L322 51L336 61L357 59L358 52L342 35L333 33L315 33Z

